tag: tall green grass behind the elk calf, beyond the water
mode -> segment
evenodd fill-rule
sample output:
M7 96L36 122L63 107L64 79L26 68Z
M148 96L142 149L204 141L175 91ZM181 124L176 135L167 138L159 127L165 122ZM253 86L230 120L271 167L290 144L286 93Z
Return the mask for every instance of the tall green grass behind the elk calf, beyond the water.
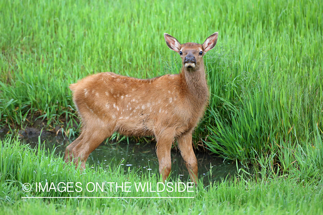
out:
M322 153L319 0L3 1L0 10L1 126L39 118L48 127L66 123L68 132L68 84L105 71L177 73L163 33L203 43L218 31L205 56L211 99L194 142L243 163L273 153L273 164L291 161L279 164L284 170L301 165L297 156Z

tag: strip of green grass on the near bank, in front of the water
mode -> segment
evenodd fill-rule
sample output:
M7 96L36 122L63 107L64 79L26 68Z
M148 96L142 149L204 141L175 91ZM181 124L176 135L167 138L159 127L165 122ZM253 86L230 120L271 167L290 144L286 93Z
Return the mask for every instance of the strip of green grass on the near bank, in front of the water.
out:
M39 144L41 142L39 141ZM266 161L265 161L266 162ZM306 161L310 164L310 161ZM121 168L122 169L122 168ZM322 181L297 181L291 176L241 175L194 192L36 192L35 183L53 182L149 182L159 177L121 171L120 167L83 172L65 165L62 158L41 147L31 149L16 138L0 140L0 208L2 214L323 214ZM263 169L264 170L264 169ZM264 171L260 170L263 174ZM211 173L212 174L212 173ZM322 173L320 173L322 174ZM172 181L176 182L176 181ZM30 183L32 190L22 190ZM83 186L82 186L83 187ZM84 188L84 187L83 187ZM46 197L120 197L117 199L48 199ZM126 199L125 197L194 197L194 199ZM45 197L22 199L21 197Z

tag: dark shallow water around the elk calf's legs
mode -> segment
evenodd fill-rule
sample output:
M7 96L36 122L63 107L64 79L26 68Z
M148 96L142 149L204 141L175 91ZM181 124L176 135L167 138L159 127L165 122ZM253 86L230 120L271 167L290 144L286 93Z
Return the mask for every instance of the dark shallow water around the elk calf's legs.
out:
M5 133L0 133L0 139L4 138ZM19 138L22 143L30 144L32 148L38 145L38 135L25 135ZM45 141L45 147L50 150L55 148L56 154L63 156L65 148L73 140L67 140L62 135L42 134L40 142ZM155 142L140 143L120 142L120 143L102 143L94 150L88 158L87 168L107 168L118 166L120 163L125 172L130 171L149 171L151 174L158 173L158 159L155 151ZM219 181L225 177L231 177L236 174L237 167L235 162L224 161L208 153L196 152L198 162L198 176L203 178L204 183L211 180ZM175 149L171 151L172 158L172 178L180 178L181 181L189 179L189 173L185 167L180 152ZM212 174L210 168L212 167ZM241 166L238 166L241 168Z

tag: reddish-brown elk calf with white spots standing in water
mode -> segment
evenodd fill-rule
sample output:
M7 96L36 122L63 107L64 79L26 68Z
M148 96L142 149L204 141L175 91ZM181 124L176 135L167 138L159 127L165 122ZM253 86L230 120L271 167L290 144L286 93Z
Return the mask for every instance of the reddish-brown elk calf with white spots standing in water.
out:
M137 79L107 72L70 85L82 128L80 136L66 148L65 162L80 162L85 168L89 154L113 132L153 135L163 181L170 174L171 147L177 139L190 177L197 183L192 132L209 99L202 57L214 48L218 33L202 45L180 44L166 33L164 38L167 46L182 58L181 73Z

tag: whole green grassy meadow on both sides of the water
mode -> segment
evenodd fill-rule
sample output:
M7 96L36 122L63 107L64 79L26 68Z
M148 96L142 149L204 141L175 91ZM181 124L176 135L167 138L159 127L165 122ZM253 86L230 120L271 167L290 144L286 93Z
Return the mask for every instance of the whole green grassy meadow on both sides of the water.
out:
M2 1L0 11L0 126L12 133L41 120L45 129L58 126L77 136L70 83L99 72L178 73L180 58L163 33L203 43L219 32L204 57L211 97L193 144L252 163L257 172L249 179L241 170L244 176L208 188L201 183L194 200L21 200L20 185L45 180L49 171L52 181L158 177L67 171L50 151L36 153L7 139L0 163L5 213L145 213L141 207L147 214L322 213L321 1ZM34 155L25 161L24 153Z

